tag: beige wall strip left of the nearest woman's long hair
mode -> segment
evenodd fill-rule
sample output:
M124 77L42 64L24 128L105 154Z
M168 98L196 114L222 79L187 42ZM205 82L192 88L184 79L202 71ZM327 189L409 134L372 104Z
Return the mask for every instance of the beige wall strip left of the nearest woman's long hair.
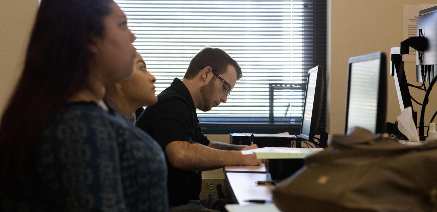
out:
M38 0L0 1L0 113L21 75ZM0 115L1 117L1 115Z

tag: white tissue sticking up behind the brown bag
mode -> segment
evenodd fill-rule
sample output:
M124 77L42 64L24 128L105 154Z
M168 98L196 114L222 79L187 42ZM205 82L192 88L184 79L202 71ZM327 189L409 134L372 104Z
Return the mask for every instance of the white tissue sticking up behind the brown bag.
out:
M419 142L419 136L417 135L417 128L413 121L413 109L407 107L402 111L396 120L398 120L398 129L403 133L410 141Z

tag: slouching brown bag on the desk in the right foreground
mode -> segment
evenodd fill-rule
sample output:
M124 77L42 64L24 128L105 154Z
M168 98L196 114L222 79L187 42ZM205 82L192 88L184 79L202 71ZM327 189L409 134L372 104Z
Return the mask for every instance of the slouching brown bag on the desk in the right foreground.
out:
M278 184L273 201L285 212L437 212L437 141L400 144L358 130Z

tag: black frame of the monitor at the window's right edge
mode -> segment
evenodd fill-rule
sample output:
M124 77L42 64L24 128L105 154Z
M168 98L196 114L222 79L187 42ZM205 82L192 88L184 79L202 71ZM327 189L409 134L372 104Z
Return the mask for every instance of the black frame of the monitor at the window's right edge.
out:
M302 132L303 120L305 118L305 106L306 106L306 100L307 100L307 92L306 91L308 90L308 85L309 85L309 83L308 83L309 75L312 72L316 72L316 71L317 71L316 88L314 91L314 102L312 104L313 107L312 107L312 113L311 113L311 122L310 122L309 132L308 132L308 134L306 134L305 132ZM323 67L321 65L317 65L316 67L309 69L307 83L306 83L306 89L305 89L305 99L304 99L303 110L302 110L301 129L300 129L300 133L299 133L299 137L301 137L305 140L313 141L314 136L316 134L317 127L319 126L320 115L322 112L322 104L323 104L323 89L324 89L323 84L324 84Z

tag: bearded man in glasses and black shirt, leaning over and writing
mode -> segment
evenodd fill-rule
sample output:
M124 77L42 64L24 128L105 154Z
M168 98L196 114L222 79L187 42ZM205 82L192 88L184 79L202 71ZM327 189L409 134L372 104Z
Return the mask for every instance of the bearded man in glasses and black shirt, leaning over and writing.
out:
M233 165L258 165L255 154L241 150L257 148L214 142L201 132L196 109L209 111L227 97L241 68L225 51L202 49L190 62L184 79L175 78L148 106L136 125L150 134L166 153L171 212L224 211L225 199L199 200L201 171ZM149 164L153 165L153 164Z

